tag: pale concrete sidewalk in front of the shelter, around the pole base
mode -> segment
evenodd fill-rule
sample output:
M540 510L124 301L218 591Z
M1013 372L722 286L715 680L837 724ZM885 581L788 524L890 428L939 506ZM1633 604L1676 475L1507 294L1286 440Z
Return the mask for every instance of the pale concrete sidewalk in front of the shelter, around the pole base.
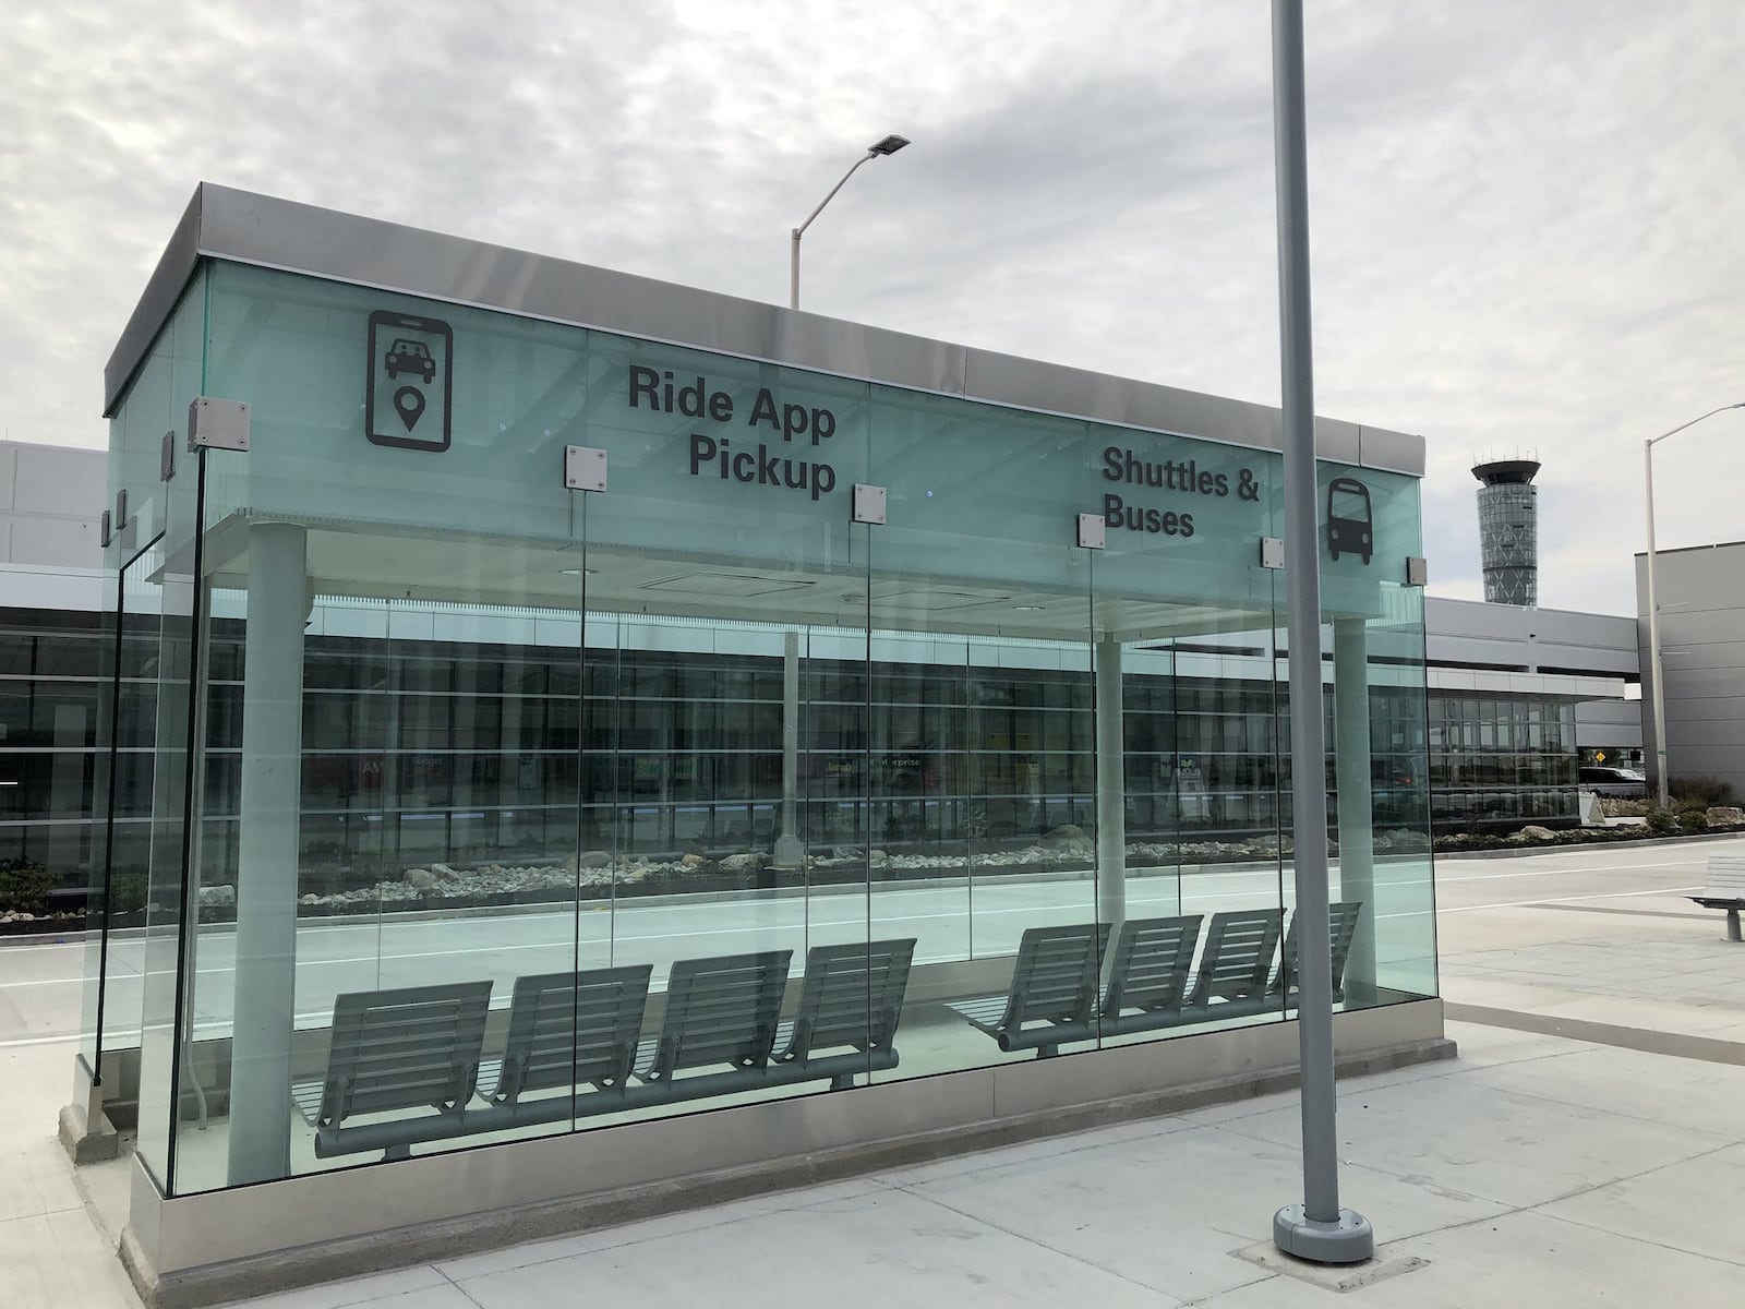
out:
M1270 1248L1298 1197L1270 1096L544 1241L253 1309L839 1306L1735 1306L1745 1068L1455 1025L1457 1063L1347 1082L1345 1203L1377 1260Z

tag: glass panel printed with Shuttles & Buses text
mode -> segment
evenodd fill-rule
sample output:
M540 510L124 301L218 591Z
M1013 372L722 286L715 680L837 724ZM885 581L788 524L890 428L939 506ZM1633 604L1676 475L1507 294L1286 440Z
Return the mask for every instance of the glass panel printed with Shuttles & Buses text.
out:
M1180 436L1092 429L1108 545L1096 552L1105 922L1103 1042L1277 1021L1281 688L1274 581L1260 565L1277 459ZM1119 696L1119 700L1117 700ZM1101 737L1099 737L1101 740ZM1106 766L1105 766L1106 764Z

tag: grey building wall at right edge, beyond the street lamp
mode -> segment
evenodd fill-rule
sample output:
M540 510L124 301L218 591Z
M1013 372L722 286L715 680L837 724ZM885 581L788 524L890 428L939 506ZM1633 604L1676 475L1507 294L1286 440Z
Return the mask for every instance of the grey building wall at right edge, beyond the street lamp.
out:
M1637 614L1644 707L1651 703L1647 560L1637 555ZM1708 775L1745 796L1745 541L1654 557L1666 700L1666 770ZM1644 709L1653 764L1653 712Z

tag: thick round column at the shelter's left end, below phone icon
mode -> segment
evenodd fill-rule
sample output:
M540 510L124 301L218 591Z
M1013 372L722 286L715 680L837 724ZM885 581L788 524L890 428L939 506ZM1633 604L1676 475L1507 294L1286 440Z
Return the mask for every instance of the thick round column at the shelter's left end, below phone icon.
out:
M302 799L305 532L248 531L243 799L230 1038L230 1185L291 1168L297 991L297 829Z

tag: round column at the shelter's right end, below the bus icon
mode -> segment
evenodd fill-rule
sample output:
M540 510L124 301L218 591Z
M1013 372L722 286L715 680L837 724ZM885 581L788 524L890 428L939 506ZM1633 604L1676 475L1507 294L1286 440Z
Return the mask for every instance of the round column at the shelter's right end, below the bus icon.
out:
M1370 644L1361 618L1333 620L1333 750L1338 785L1338 897L1363 901L1345 960L1345 995L1375 997L1375 812L1370 775Z

